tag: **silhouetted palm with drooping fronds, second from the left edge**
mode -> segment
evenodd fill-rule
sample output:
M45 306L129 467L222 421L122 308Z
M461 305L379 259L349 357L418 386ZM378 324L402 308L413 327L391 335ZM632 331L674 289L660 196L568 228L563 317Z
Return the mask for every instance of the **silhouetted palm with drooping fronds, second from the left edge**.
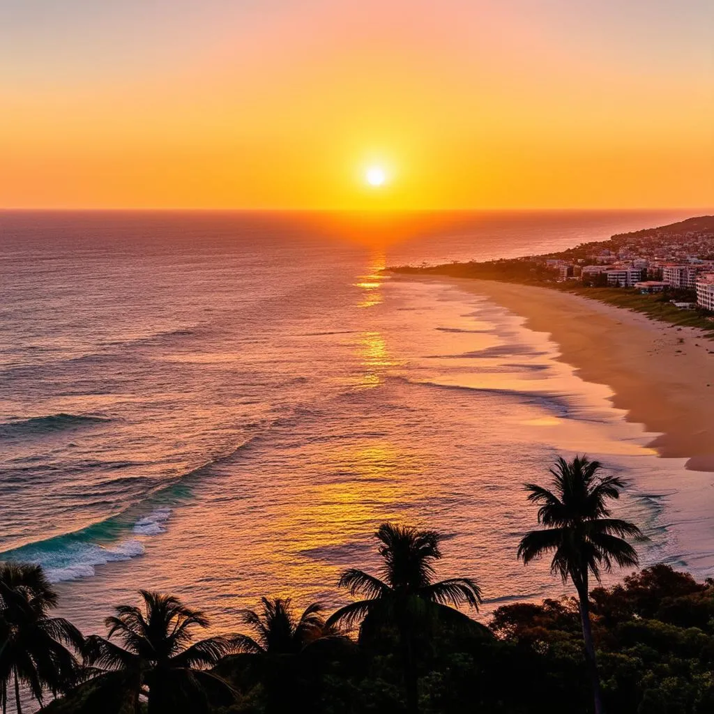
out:
M87 638L87 665L104 670L99 691L117 703L116 693L131 696L139 712L139 696L149 700L149 714L208 710L212 695L228 700L233 692L205 668L236 651L231 637L212 637L191 645L196 627L208 620L172 595L140 590L143 607L119 605L116 615L106 618L108 638ZM118 635L124 647L111 642ZM105 700L106 700L105 698Z

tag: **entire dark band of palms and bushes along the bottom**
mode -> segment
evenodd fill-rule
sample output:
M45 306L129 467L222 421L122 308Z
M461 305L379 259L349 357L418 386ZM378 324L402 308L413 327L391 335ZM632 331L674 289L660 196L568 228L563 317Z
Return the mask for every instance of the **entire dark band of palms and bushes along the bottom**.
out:
M714 711L714 581L655 565L591 589L637 563L638 529L609 508L623 483L586 458L550 473L526 486L539 528L518 555L548 554L578 597L503 605L488 627L466 614L481 604L476 580L436 576L443 536L393 524L376 533L377 573L343 573L353 602L336 613L263 598L240 633L198 641L203 613L145 591L115 608L106 638L82 638L51 618L36 565L0 565L2 708L21 683L39 702L64 693L49 714Z

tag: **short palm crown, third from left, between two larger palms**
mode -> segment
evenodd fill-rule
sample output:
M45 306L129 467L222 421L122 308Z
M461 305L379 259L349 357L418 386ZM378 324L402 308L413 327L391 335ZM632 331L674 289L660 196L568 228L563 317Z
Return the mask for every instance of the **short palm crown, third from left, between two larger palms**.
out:
M260 612L241 610L241 619L253 630L251 635L237 635L236 643L246 653L295 655L317 640L336 637L336 630L326 628L320 615L322 605L312 603L300 617L291 607L290 598L261 598Z

